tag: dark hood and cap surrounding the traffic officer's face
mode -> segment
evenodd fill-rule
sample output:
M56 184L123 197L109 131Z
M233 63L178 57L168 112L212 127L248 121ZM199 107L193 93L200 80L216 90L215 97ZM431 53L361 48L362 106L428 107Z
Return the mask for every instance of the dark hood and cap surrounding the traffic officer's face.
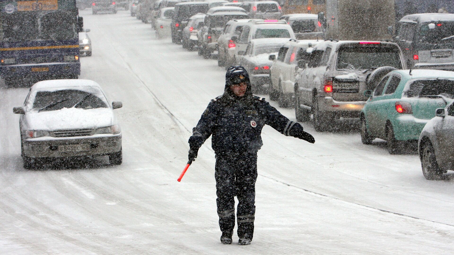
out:
M241 82L247 83L246 93L242 97L236 96L233 91L230 89L230 85L237 84ZM220 99L222 103L225 105L235 103L235 102L242 102L247 105L252 105L253 98L252 98L252 88L251 88L251 81L249 79L249 74L247 73L246 69L241 65L235 65L229 67L226 73L226 85L224 88L224 93L222 94L222 98Z

